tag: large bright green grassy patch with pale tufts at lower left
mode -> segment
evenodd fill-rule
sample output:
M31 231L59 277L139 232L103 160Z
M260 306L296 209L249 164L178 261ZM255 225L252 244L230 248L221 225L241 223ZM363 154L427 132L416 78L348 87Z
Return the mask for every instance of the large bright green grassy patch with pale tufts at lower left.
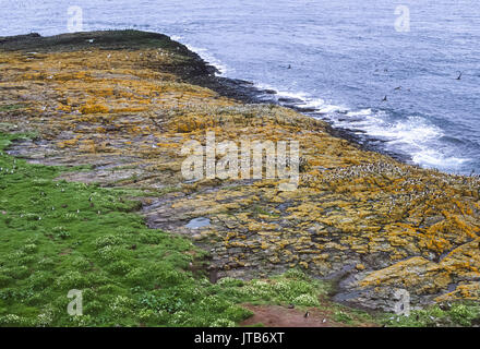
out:
M317 304L320 284L295 270L217 285L192 274L205 253L148 229L127 200L137 192L57 181L72 168L3 153L20 137L0 133L0 326L233 326L251 314L239 303ZM71 289L82 316L67 312Z

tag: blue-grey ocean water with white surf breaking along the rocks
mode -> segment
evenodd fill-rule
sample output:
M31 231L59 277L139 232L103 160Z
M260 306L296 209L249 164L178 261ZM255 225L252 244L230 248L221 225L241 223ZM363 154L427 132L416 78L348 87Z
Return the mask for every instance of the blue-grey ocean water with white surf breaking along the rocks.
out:
M64 33L70 5L84 31L170 35L219 74L275 89L269 98L360 142L480 173L478 0L0 0L0 36ZM397 7L409 31L398 31Z

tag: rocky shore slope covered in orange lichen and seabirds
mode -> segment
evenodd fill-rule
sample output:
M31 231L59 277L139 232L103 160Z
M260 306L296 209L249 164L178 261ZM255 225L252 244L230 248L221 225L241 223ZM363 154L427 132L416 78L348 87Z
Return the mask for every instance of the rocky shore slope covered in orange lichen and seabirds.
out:
M35 131L9 154L89 165L62 179L143 190L152 228L191 237L212 279L289 268L335 280L335 299L393 311L479 299L480 181L420 169L280 106L167 36L134 31L0 38L2 131ZM302 111L302 110L299 110ZM303 110L304 112L304 110ZM180 148L205 142L298 140L307 166L293 192L277 180L184 181ZM340 139L338 136L344 136ZM191 228L194 219L207 224Z

